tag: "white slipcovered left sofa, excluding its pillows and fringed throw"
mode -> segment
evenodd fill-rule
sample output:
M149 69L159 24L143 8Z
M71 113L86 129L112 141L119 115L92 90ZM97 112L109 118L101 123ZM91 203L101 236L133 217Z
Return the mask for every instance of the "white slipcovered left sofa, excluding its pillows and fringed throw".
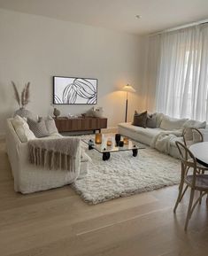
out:
M61 136L54 134L51 137ZM47 139L49 137L46 137ZM49 170L29 163L28 144L19 140L12 126L12 119L7 120L6 150L12 167L14 190L23 194L40 190L49 190L72 183L77 178L86 175L89 167L89 156L81 151L81 144L76 157L76 172L65 170Z

